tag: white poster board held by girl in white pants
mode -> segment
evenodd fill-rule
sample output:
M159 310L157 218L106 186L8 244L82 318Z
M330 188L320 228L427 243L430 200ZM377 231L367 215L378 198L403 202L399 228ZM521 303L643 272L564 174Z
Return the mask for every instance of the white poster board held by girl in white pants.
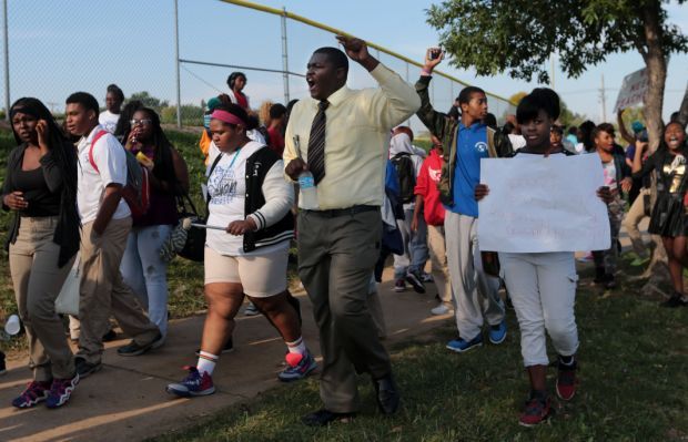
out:
M542 253L605 250L610 246L607 206L596 154L480 160L480 250Z

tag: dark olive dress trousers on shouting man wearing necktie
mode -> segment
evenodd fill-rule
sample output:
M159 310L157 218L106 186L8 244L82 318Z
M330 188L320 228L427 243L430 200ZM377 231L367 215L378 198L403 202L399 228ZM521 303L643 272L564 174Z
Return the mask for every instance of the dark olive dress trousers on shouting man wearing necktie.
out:
M367 299L381 236L380 210L299 215L299 276L320 331L321 398L333 412L358 411L356 372L378 379L392 371Z

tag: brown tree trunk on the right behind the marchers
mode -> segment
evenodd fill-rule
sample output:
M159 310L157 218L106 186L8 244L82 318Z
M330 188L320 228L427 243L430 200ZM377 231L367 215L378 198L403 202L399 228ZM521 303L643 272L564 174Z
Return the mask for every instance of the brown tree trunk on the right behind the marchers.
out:
M648 75L648 90L645 96L645 119L649 135L650 152L655 152L659 145L664 124L661 110L664 105L664 89L667 80L667 62L661 47L661 27L659 21L659 2L646 2L643 6L643 21L645 29L644 48L640 49ZM652 183L652 204L656 195L656 186ZM656 291L659 287L669 282L669 268L667 266L667 253L657 236L652 236L655 243L652 257L646 275L649 276L646 291Z

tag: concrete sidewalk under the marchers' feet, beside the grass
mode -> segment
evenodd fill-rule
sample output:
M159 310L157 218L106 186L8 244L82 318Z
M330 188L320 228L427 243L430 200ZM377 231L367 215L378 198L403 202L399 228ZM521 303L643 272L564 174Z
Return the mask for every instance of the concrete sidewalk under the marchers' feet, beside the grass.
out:
M385 276L380 292L387 322L386 345L453 319L451 315L431 316L431 308L436 306L433 284L427 285L425 295L411 289L396 294L391 269ZM303 290L295 295L302 305L303 336L320 361L311 304ZM195 363L203 319L204 316L195 316L172 321L165 345L141 357L123 358L115 353L127 339L110 342L103 369L84 379L69 404L58 410L42 404L30 410L10 405L31 373L26 358L9 360L9 372L0 378L0 441L139 441L191 425L199 418L281 384L276 374L283 369L282 339L263 316L240 313L234 331L236 350L221 358L213 374L219 391L195 399L172 399L165 393L169 382L185 376L181 367Z

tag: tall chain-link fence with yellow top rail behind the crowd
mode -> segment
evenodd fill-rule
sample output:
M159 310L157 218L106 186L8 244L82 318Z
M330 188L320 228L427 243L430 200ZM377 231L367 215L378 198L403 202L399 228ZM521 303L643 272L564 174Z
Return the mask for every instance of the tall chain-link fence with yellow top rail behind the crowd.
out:
M244 91L253 109L264 101L307 96L303 74L308 58L318 47L335 45L333 35L343 32L234 0L2 2L3 107L36 96L61 113L64 99L75 91L104 104L107 85L117 83L128 97L143 96L163 122L183 125L202 123L204 101L226 92L226 78L236 70L247 76ZM370 44L392 70L409 82L417 79L418 63ZM353 63L348 85L373 86L374 80ZM431 89L435 107L447 111L464 85L437 73ZM488 101L499 121L514 112L503 97L488 94ZM423 130L417 119L409 123Z

